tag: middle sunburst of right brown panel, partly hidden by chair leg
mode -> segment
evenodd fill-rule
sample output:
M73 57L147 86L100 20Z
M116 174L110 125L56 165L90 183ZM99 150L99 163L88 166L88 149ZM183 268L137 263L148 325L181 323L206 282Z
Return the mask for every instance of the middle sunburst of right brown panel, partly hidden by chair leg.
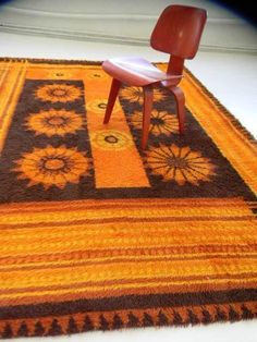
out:
M135 111L130 117L131 123L135 129L142 129L143 113ZM178 133L179 122L175 115L167 111L158 111L154 109L150 117L150 130L154 135Z

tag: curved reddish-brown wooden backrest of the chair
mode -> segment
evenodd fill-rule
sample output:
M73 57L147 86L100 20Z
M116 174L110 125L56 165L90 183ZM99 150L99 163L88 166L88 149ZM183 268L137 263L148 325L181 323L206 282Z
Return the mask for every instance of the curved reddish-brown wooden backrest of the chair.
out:
M161 13L150 38L154 49L182 59L193 59L198 50L207 11L172 4Z

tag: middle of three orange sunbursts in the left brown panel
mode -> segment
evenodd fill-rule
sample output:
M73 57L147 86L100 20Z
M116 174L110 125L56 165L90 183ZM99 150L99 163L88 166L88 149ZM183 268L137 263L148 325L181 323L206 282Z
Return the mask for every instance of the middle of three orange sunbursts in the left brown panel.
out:
M75 133L83 124L84 117L75 111L50 109L29 114L25 125L36 135L46 134L50 137L54 134L64 136L68 133Z

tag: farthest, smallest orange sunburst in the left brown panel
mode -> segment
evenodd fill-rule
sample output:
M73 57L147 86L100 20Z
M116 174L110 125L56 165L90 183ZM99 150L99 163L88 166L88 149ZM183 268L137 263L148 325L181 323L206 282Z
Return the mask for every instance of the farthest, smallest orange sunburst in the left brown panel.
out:
M42 101L70 102L82 96L82 89L74 85L54 83L38 87L35 95Z

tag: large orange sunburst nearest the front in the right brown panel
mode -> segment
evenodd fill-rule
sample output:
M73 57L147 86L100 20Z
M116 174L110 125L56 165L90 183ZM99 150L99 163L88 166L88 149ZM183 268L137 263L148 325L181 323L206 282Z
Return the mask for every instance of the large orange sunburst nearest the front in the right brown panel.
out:
M210 182L215 166L200 151L176 145L151 148L146 156L146 167L152 174L161 175L163 181L175 181L179 185L188 182L199 185L199 181Z

